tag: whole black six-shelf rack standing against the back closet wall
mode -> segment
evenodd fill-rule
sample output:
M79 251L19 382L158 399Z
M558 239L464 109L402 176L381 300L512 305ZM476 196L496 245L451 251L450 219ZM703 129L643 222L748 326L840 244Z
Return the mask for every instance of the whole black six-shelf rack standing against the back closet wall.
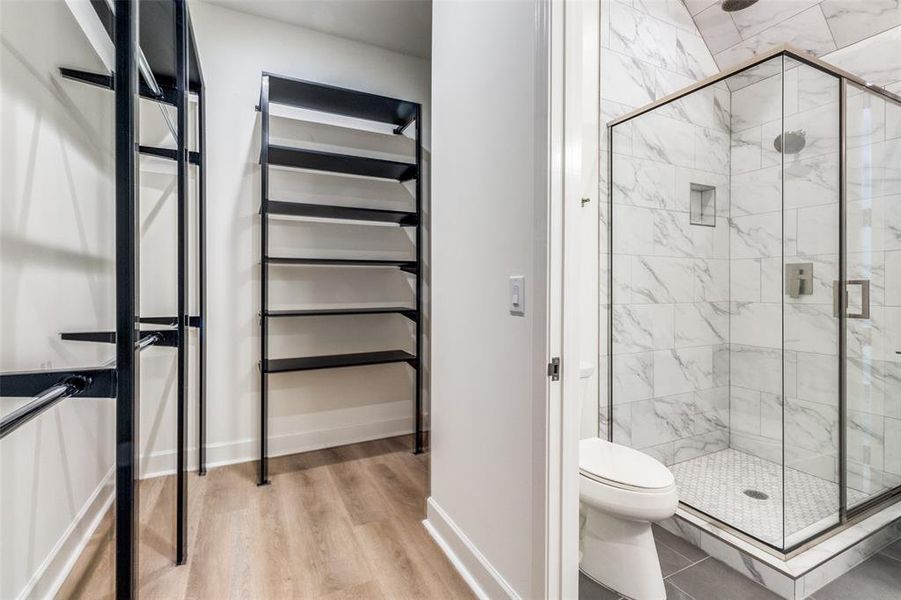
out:
M395 135L403 135L415 123L413 162L336 154L270 143L270 104L313 110L388 124ZM268 470L268 379L275 373L348 368L362 365L406 363L415 371L413 452L423 450L422 418L422 106L357 90L304 81L273 73L263 73L260 86L260 461L258 484L269 483ZM352 208L346 206L285 202L269 196L269 168L286 167L394 180L398 185L414 181L415 206L410 211ZM355 222L391 223L416 228L416 257L410 260L280 257L269 254L269 219L273 216L312 217ZM272 265L394 267L415 277L415 308L358 307L272 310L269 308L269 268ZM332 354L296 358L269 358L269 322L272 319L340 315L399 314L414 323L415 354L385 350L353 354Z

